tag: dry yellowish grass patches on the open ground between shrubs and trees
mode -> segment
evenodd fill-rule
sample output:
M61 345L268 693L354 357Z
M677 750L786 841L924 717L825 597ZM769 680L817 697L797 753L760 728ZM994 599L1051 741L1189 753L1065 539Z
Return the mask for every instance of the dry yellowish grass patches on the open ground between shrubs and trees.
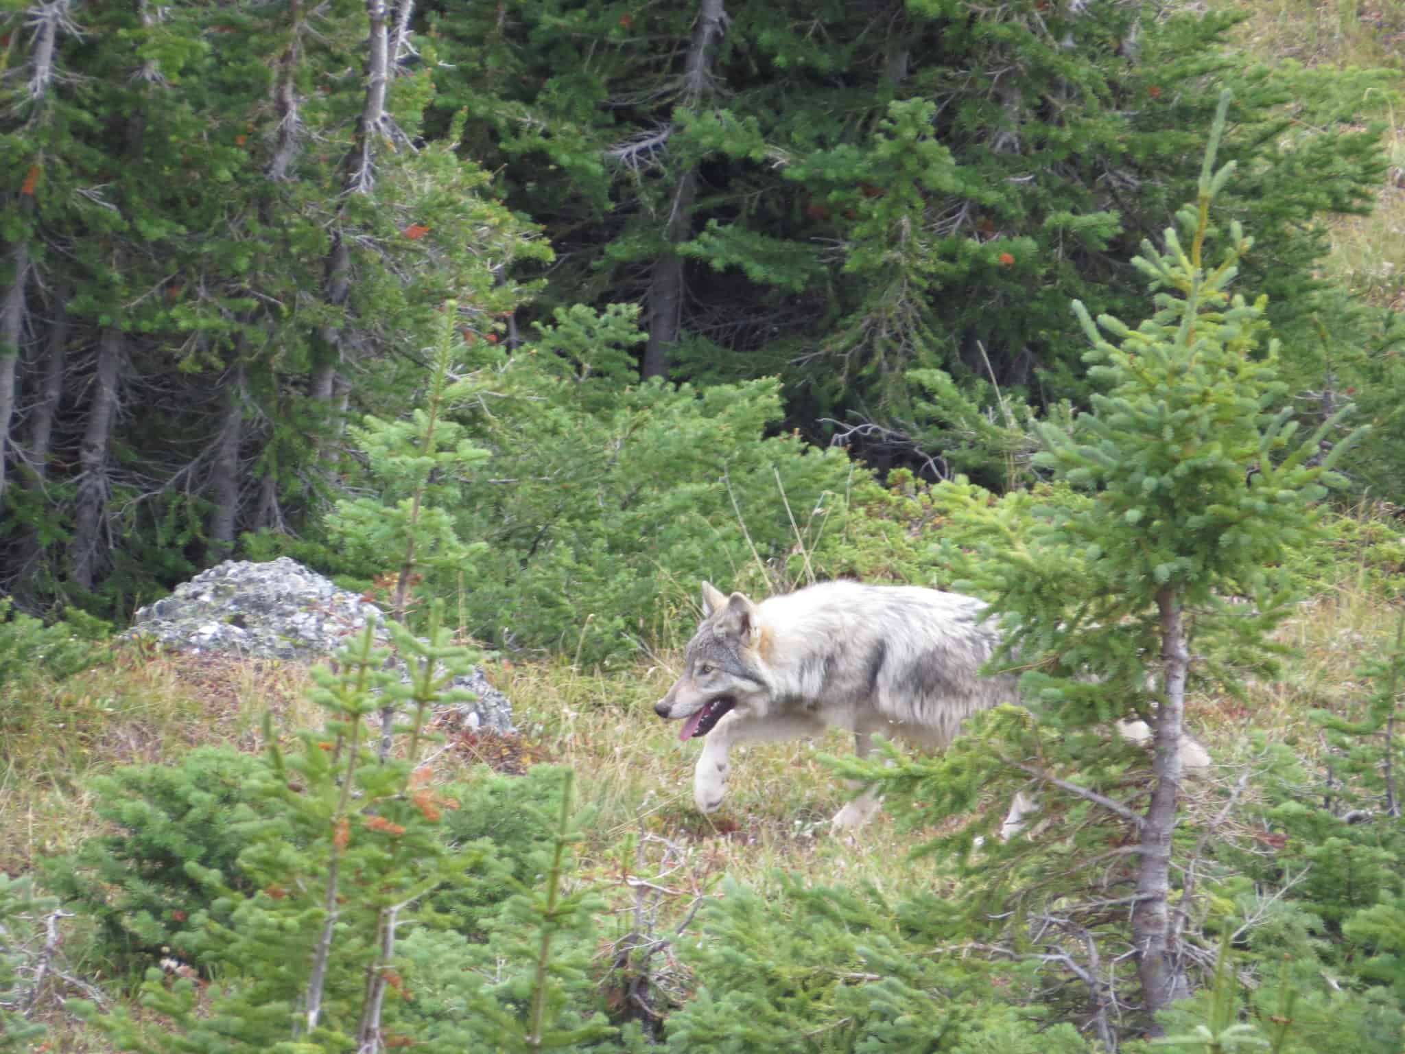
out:
M1210 6L1246 13L1238 38L1252 56L1326 67L1388 66L1401 70L1405 87L1405 0L1210 0ZM1371 216L1331 223L1328 266L1373 304L1402 309L1405 103L1363 100L1367 118L1387 121L1392 167ZM1343 554L1335 575L1318 583L1283 627L1281 639L1294 651L1277 680L1253 686L1243 701L1193 700L1190 722L1217 763L1211 779L1232 779L1256 739L1312 755L1321 736L1307 717L1312 708L1350 717L1363 694L1353 670L1363 655L1378 652L1375 642L1390 639L1397 618L1380 587L1383 572L1399 576L1405 569L1353 564ZM513 700L520 736L451 735L434 748L436 776L481 779L485 765L499 772L535 762L573 767L579 802L594 814L579 847L576 881L600 884L607 892L614 887L610 901L621 912L621 930L639 895L631 877L659 880L655 885L667 901L662 926L686 918L697 897L715 890L724 876L762 888L778 883L781 873L804 883L871 883L878 890L948 881L940 860L910 857L922 832L903 831L885 814L857 835L830 835L829 816L847 791L822 755L850 750L850 738L839 732L816 742L739 749L722 811L698 815L691 804L698 746L680 743L677 724L660 721L652 710L677 658L665 655L615 672L579 669L561 658L492 661L486 669ZM138 762L173 762L204 743L257 750L266 711L282 734L319 720L303 697L306 686L306 673L294 666L128 648L107 666L21 700L42 717L14 732L0 714L0 871L25 873L38 854L72 850L100 832L90 784L96 774ZM617 849L629 833L646 836L639 839L643 849L632 863L620 861ZM66 968L79 977L100 975L79 920L72 923L63 946ZM110 992L122 998L138 980L119 978ZM45 1016L52 1026L48 1050L108 1050L56 1006Z

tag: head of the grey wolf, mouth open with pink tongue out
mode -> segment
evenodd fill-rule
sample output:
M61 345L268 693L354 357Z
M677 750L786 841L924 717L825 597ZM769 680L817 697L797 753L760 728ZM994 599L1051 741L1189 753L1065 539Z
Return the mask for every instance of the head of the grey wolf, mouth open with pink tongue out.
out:
M662 718L681 720L679 739L712 731L728 711L764 711L770 698L759 652L760 613L740 593L731 597L702 583L702 624L684 652L683 676L653 707Z

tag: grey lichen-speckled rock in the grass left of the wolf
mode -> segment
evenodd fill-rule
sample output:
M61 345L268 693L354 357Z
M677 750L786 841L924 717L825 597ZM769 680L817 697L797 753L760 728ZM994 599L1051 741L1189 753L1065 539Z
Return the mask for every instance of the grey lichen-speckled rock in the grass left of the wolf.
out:
M292 662L323 659L365 627L385 623L375 604L281 557L267 564L226 561L155 604L139 609L124 637L145 637L183 652L256 655ZM388 641L384 630L377 632ZM443 717L468 728L513 731L511 704L482 670L455 677L452 687L476 698Z

